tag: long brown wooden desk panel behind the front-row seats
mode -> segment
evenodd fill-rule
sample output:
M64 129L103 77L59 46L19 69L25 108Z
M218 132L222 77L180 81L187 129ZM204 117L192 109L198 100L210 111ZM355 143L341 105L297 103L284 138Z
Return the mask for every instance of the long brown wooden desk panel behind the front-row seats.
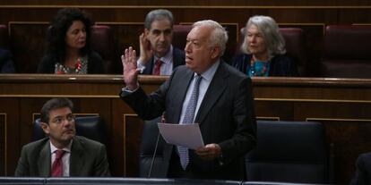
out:
M167 77L141 76L146 92ZM371 148L371 80L255 78L259 119L317 121L333 145L335 183L349 183L358 154ZM138 174L142 120L118 97L120 75L1 74L0 175L13 175L21 148L30 142L32 119L51 97L71 97L76 114L99 114L107 123L108 157L114 176ZM4 116L2 116L4 117ZM4 143L4 144L3 144Z

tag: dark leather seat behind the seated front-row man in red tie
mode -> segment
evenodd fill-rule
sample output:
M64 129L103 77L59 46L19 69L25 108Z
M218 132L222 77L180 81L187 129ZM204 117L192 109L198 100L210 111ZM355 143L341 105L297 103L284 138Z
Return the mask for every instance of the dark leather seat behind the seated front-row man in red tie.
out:
M44 130L41 129L40 119L33 124L32 141L43 139ZM75 118L76 135L99 141L107 146L107 134L103 120L99 116L79 116Z

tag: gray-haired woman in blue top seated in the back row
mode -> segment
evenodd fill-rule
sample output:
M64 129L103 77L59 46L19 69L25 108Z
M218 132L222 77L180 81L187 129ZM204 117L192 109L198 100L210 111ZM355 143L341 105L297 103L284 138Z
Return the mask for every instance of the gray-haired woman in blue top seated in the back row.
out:
M232 65L250 77L298 76L298 69L287 56L285 40L271 17L256 15L246 23L242 54L232 58Z

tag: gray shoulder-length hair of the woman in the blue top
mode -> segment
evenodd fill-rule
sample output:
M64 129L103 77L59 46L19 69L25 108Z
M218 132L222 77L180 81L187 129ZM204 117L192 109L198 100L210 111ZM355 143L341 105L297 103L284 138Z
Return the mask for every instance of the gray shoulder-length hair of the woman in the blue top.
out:
M259 32L262 33L270 58L277 54L282 55L286 53L285 39L283 39L282 35L280 35L280 29L272 17L263 15L255 15L251 17L246 23L245 37L247 35L247 29L249 29L252 25L255 25ZM247 42L248 41L244 39L241 50L246 54L250 54L250 51L247 47L249 43Z

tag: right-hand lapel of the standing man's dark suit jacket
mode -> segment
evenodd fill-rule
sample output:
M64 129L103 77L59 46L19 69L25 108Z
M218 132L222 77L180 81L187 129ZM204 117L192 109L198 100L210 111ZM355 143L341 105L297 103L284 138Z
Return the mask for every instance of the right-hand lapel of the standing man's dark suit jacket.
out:
M227 88L228 81L226 78L229 73L226 72L225 63L220 61L218 70L215 72L214 77L211 80L210 86L203 97L203 102L200 105L199 111L194 119L194 122L202 123L206 115L211 110L211 107L215 105L224 90Z

